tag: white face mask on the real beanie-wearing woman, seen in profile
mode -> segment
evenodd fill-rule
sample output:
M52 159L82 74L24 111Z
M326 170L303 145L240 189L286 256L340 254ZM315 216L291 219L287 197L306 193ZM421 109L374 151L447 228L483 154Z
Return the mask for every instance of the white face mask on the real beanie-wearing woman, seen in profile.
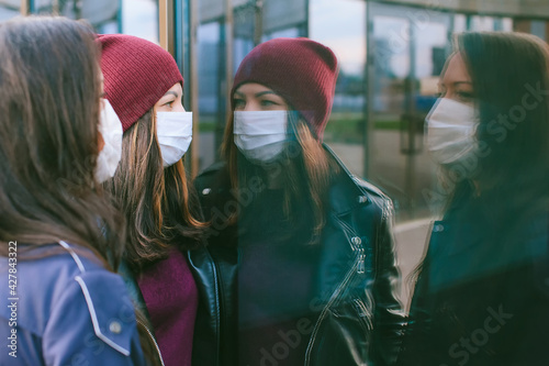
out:
M157 112L156 135L164 167L176 164L187 153L192 141L192 112Z

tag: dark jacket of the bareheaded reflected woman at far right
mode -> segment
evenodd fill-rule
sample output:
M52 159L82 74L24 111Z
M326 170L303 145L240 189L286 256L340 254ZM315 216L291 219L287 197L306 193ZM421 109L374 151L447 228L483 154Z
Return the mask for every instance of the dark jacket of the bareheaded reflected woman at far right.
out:
M548 199L473 191L433 225L399 366L548 364Z

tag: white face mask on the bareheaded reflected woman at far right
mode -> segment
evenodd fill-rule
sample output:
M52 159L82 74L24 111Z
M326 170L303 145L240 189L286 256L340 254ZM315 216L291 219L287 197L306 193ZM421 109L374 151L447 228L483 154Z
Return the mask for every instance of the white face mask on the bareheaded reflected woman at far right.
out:
M426 118L427 147L439 164L451 164L479 151L478 111L451 99L439 99Z

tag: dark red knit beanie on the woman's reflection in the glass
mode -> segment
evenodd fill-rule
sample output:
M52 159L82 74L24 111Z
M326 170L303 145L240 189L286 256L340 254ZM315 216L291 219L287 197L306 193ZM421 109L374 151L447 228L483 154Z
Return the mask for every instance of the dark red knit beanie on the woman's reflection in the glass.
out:
M299 111L322 141L337 71L337 58L328 47L303 37L274 38L261 43L244 58L231 96L243 84L261 84ZM234 102L232 107L234 110Z

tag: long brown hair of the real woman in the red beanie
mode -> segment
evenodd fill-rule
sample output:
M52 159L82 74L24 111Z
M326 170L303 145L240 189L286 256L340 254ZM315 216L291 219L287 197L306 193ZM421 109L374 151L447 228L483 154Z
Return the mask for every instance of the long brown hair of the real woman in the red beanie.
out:
M164 168L154 109L124 133L122 160L105 188L125 213L125 259L134 270L166 258L171 245L189 249L202 242L198 196L182 160Z

